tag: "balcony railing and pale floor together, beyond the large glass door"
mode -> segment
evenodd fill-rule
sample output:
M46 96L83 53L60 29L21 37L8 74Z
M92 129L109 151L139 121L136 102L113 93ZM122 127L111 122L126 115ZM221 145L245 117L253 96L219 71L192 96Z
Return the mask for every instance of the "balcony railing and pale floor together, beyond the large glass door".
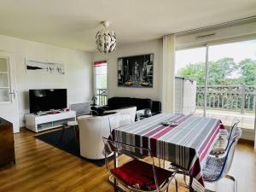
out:
M203 115L205 87L197 86L196 111ZM232 120L241 120L241 128L254 130L256 86L253 85L210 85L207 89L206 116L221 119L224 125Z

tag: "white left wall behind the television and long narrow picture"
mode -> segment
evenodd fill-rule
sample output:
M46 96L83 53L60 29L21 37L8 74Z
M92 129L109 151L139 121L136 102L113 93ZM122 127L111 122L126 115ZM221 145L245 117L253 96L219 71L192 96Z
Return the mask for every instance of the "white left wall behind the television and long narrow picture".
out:
M67 89L67 104L88 102L92 96L92 55L83 51L0 36L0 51L14 55L20 126L29 112L28 90ZM65 65L65 75L26 73L25 59Z

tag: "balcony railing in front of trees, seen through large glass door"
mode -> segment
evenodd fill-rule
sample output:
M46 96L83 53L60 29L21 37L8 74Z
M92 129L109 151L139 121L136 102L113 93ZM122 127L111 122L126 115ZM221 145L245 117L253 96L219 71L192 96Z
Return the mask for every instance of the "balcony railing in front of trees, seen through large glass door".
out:
M197 86L196 108L204 108L205 86ZM254 113L256 86L253 85L209 85L207 89L207 108L225 111Z

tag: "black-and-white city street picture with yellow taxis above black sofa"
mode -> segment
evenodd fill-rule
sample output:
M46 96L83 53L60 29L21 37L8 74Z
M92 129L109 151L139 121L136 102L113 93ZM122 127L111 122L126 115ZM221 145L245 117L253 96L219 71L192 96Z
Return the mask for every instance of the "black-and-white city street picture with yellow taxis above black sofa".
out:
M154 54L118 58L118 86L153 88Z

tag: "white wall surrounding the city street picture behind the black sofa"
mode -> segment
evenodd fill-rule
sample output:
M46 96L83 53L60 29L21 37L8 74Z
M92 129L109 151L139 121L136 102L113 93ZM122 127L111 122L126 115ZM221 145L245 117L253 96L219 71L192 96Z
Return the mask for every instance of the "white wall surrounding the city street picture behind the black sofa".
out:
M117 81L117 59L122 56L154 54L154 79L153 88L129 88L118 87ZM162 73L162 39L152 40L139 44L128 44L119 46L110 55L96 53L94 61L108 61L108 97L131 96L139 98L150 98L161 100L161 73Z

